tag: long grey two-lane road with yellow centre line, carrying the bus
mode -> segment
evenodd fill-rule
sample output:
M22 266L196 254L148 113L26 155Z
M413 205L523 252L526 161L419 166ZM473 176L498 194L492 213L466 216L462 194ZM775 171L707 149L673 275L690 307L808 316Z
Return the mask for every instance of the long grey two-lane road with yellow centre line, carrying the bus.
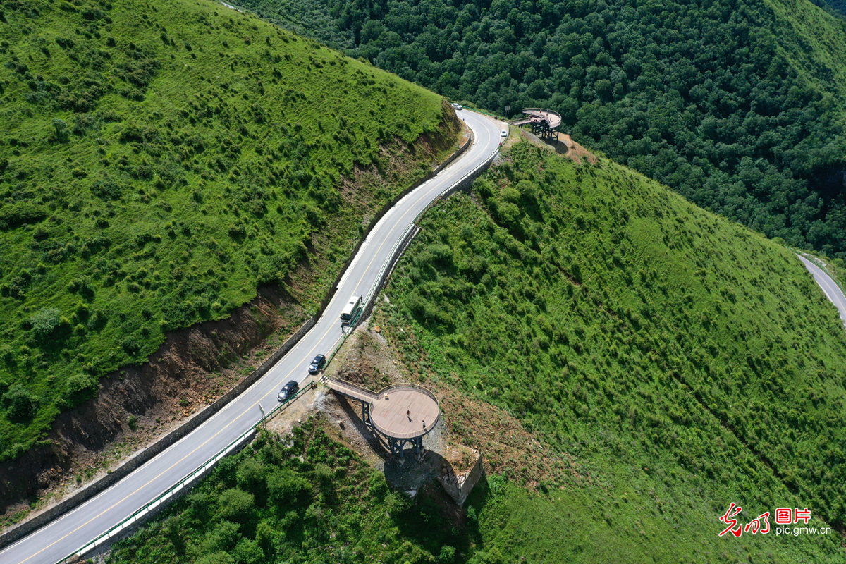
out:
M415 216L437 194L497 151L500 141L497 123L469 110L460 111L459 117L464 118L473 129L474 144L453 164L408 194L382 217L361 245L321 319L283 359L190 435L111 488L0 551L0 562L53 564L80 550L250 429L261 418L260 405L266 412L276 407L277 391L286 381L305 380L310 359L316 353L328 353L341 337L339 317L349 297L370 292L390 250Z

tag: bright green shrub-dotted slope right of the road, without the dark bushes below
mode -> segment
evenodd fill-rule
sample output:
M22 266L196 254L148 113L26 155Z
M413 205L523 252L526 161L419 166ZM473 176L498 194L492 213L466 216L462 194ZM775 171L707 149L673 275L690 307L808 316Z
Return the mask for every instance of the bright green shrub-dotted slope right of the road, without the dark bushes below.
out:
M506 160L426 214L377 313L421 378L508 409L589 476L509 485L479 513L485 550L842 561L836 532L717 538L732 501L744 523L809 507L844 525L846 333L805 267L612 162L526 143Z

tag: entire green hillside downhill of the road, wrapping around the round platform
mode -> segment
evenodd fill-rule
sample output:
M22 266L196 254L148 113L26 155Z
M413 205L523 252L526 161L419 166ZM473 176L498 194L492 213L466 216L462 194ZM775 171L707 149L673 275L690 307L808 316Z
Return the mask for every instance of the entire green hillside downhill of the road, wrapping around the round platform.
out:
M506 158L427 213L371 321L495 473L465 511L388 492L317 419L112 562L843 561L846 334L799 260L611 162ZM536 440L500 452L469 403ZM741 523L809 507L835 531L719 538L732 501Z

